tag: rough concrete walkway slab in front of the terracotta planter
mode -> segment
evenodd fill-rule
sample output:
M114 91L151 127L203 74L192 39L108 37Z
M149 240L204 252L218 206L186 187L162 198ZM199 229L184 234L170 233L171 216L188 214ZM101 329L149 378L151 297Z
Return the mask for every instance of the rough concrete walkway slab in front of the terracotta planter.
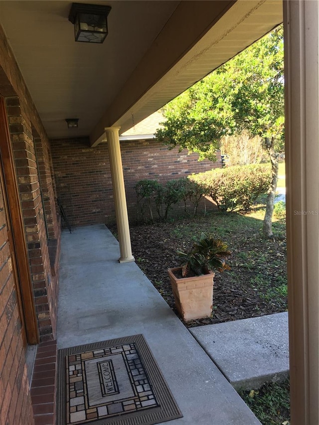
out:
M289 376L287 311L190 332L236 390L257 389Z

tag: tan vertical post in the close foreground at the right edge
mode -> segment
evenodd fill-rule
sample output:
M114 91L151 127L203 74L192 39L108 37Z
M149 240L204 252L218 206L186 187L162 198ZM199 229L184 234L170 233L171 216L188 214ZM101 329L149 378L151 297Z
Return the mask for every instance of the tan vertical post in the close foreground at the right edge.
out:
M291 424L319 424L319 3L284 1Z

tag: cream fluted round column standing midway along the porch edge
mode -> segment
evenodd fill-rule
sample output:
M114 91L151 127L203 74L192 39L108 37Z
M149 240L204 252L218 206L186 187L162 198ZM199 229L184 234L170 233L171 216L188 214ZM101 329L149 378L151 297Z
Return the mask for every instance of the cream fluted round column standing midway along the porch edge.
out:
M119 139L120 127L107 127L105 133L108 141L109 158L113 196L115 203L116 222L118 226L121 257L120 263L135 261L132 255L131 237L129 228L128 208L125 196L123 166Z

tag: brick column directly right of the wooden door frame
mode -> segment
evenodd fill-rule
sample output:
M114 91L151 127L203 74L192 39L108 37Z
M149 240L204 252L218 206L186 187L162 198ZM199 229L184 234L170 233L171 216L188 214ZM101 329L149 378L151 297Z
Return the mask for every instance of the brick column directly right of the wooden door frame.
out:
M6 98L5 101L39 335L41 342L44 342L54 339L57 284L50 287L52 275L31 123L21 110L17 97Z

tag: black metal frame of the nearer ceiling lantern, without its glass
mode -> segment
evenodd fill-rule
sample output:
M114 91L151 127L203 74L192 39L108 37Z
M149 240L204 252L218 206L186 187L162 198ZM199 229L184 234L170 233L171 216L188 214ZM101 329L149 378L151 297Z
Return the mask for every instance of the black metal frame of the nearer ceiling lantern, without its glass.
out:
M105 17L105 25L106 25L106 31L98 31L97 33L99 35L104 34L104 38L100 38L101 41L90 41L90 40L78 40L77 38L79 37L80 32L83 33L94 33L94 31L92 30L85 30L85 29L79 29L79 31L76 33L76 29L75 29L75 41L79 41L79 42L92 42L94 44L102 44L103 41L105 40L106 36L108 35L108 22L107 22L107 17L108 14L110 13L111 10L111 6L107 6L107 5L100 5L100 4L86 4L86 3L72 3L71 6L71 10L69 13L69 21L73 23L74 27L76 25L77 22L77 18L79 13L84 13L84 14L88 14L88 15L99 15L99 16L103 16Z

